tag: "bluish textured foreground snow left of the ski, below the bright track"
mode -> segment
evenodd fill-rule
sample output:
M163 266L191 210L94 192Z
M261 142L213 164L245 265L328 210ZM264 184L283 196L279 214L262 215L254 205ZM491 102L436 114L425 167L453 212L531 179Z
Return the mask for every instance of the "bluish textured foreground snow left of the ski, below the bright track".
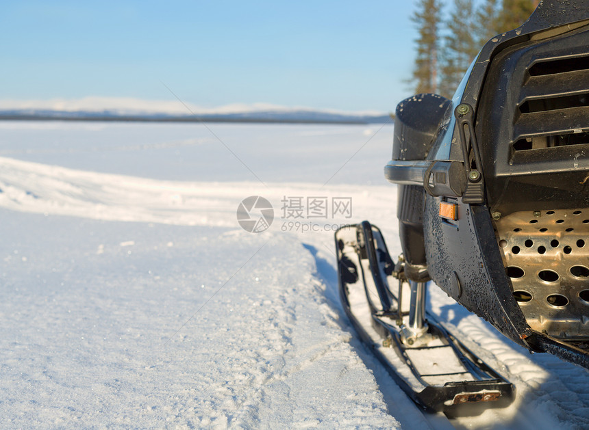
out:
M296 238L1 213L0 427L399 427Z

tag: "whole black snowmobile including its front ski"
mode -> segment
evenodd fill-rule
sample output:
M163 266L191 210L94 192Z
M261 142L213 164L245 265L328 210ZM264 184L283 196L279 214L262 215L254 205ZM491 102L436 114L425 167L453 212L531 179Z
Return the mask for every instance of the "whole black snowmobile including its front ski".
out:
M427 312L430 281L518 345L589 368L588 0L540 2L484 45L452 100L399 103L384 173L402 254L368 221L340 228L340 297L418 405L471 414L514 399Z

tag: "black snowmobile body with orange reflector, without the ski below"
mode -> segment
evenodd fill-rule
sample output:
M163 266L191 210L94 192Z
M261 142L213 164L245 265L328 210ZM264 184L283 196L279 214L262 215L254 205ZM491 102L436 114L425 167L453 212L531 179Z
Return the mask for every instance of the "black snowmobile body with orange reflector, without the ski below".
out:
M385 176L408 279L589 368L589 1L540 2L453 100L399 103Z

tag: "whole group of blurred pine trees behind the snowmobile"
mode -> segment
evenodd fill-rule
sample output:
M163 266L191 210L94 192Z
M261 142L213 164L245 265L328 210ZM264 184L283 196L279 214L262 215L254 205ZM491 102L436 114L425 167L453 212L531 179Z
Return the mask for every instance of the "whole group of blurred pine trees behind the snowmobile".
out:
M418 0L411 18L419 31L410 79L416 94L451 98L482 46L522 25L537 5L538 0L453 0L444 19L443 0Z

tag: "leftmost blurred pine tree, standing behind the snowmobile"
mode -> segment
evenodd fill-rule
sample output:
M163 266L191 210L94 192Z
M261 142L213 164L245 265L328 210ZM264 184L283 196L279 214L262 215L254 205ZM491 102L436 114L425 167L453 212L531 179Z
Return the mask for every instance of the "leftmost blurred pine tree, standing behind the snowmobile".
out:
M419 31L412 82L415 92L438 92L438 49L441 0L419 0L411 20Z

